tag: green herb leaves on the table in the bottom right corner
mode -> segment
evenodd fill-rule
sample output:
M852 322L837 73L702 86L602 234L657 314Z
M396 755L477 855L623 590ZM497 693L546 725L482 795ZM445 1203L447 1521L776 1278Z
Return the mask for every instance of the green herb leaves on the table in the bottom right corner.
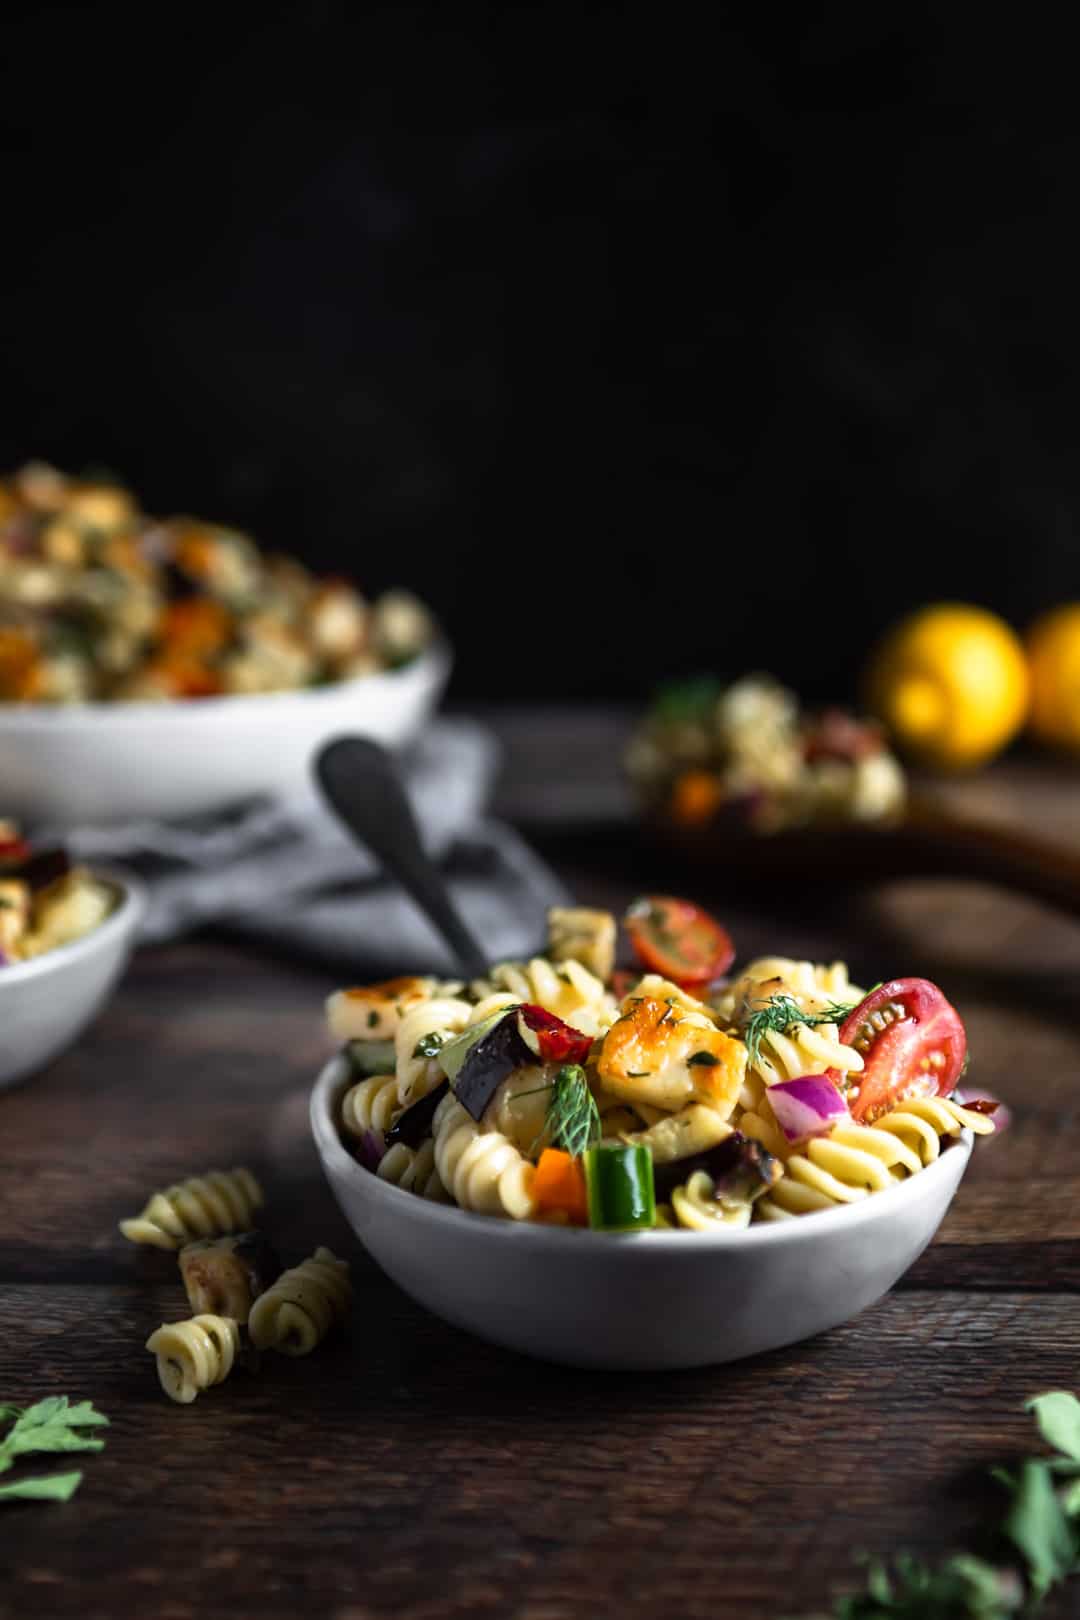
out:
M892 1565L874 1562L863 1591L836 1601L836 1620L1009 1620L1033 1614L1080 1573L1080 1401L1049 1390L1027 1409L1057 1455L991 1471L1009 1503L988 1528L983 1555L959 1552L938 1565L908 1554Z

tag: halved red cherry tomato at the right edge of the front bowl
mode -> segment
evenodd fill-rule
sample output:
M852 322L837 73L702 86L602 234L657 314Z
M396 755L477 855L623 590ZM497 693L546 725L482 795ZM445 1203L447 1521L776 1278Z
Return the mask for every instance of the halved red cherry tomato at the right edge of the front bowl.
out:
M840 1040L863 1055L852 1076L852 1118L873 1124L915 1097L947 1097L968 1050L960 1014L928 978L878 985L840 1025Z

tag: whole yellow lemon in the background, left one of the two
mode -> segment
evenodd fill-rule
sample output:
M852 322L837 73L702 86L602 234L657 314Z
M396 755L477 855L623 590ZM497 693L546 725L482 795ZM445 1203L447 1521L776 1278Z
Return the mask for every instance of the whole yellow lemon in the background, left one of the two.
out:
M981 765L1017 734L1028 667L1017 635L984 608L938 603L900 620L866 671L873 710L928 765Z

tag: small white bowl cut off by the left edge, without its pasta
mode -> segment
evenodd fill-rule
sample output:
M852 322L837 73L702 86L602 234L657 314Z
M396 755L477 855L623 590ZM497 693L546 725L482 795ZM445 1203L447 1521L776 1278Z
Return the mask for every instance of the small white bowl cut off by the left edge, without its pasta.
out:
M128 966L144 910L142 886L97 867L94 876L118 894L99 928L29 962L0 967L0 1090L71 1047Z

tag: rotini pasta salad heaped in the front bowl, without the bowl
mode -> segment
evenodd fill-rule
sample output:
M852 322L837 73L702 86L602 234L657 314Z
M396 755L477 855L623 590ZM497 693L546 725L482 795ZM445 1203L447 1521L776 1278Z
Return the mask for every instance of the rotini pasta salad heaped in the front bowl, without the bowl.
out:
M468 987L332 996L361 1165L476 1215L738 1231L861 1202L994 1131L996 1103L957 1090L967 1035L928 980L865 991L845 962L785 956L732 972L725 930L670 896L625 927L635 972L615 972L610 914L555 909L544 954Z

